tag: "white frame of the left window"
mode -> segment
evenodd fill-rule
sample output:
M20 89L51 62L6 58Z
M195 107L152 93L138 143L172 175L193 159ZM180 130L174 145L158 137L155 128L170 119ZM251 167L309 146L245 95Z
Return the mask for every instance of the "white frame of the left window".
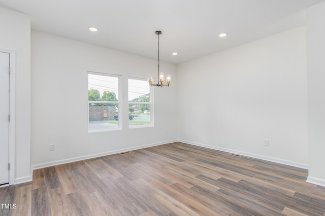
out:
M122 91L121 91L121 75L118 74L110 74L110 73L100 73L87 71L87 89L89 90L89 74L99 75L99 76L108 76L117 78L117 101L89 101L89 95L87 93L87 110L88 110L88 133L98 133L98 132L109 132L109 131L119 131L122 129L122 120L118 118L117 127L114 128L105 128L105 129L90 129L89 127L89 104L91 103L101 103L101 104L117 104L118 106L118 116L122 115ZM88 92L88 91L87 91Z

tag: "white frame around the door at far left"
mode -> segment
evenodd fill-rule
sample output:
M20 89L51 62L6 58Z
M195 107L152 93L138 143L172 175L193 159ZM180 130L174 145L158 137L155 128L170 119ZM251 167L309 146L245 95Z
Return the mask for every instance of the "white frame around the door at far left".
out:
M10 80L9 80L9 185L15 184L15 89L16 89L16 51L0 48L0 52L9 53Z

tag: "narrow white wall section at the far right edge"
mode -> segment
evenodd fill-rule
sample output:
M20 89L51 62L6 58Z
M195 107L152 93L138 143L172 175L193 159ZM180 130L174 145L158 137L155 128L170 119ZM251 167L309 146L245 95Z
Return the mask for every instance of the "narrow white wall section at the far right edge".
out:
M325 3L307 10L308 181L325 186Z

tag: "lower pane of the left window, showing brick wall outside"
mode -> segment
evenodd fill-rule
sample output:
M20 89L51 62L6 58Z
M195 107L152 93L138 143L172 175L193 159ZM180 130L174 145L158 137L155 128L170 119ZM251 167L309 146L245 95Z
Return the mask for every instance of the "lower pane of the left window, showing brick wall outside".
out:
M118 128L118 104L89 103L89 131Z

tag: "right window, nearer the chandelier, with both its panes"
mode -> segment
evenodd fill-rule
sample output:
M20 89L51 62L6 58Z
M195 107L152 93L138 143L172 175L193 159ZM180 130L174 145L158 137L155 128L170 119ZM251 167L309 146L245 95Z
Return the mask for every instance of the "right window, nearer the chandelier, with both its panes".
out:
M129 127L142 127L152 125L152 96L147 80L128 79L128 111Z

